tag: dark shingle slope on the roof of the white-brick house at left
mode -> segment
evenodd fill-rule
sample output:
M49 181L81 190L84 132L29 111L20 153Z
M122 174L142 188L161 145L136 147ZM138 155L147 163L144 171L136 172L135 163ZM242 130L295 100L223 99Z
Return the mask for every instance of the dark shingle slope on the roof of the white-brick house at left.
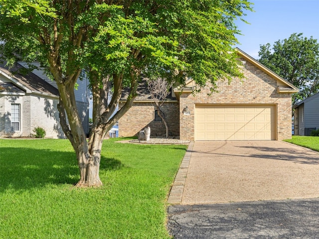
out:
M26 74L23 74L25 70L26 69L18 63L16 63L12 68L10 68L10 70L7 66L5 66L5 63L0 64L0 73L3 72L5 75L15 79L17 82L29 89L31 92L59 96L59 91L55 87L53 87L37 75L33 74L32 72L27 72Z

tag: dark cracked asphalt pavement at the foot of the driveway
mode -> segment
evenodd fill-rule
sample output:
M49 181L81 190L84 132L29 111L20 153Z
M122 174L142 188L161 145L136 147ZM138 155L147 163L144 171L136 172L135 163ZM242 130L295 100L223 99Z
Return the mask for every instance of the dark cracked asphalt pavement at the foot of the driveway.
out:
M319 198L174 205L167 229L174 239L319 239Z

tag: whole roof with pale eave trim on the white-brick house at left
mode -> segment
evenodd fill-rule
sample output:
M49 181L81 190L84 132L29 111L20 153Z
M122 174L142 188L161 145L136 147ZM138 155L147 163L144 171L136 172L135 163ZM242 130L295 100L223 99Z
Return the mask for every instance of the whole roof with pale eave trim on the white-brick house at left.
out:
M45 82L43 79L36 76L32 72L21 74L21 72L23 72L24 70L26 69L18 63L16 63L14 67L10 68L10 70L7 66L5 66L5 64L0 64L0 74L8 79L11 84L15 85L17 88L22 89L24 92L47 95L51 97L59 96L59 92L55 87L51 86L49 83ZM14 72L15 74L12 74L12 72ZM5 89L8 90L10 88Z

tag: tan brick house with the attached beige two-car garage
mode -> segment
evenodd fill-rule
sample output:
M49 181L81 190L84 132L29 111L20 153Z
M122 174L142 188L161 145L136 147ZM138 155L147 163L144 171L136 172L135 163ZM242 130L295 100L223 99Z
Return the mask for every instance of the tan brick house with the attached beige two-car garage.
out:
M163 107L172 136L189 140L291 138L291 95L299 90L238 48L237 52L245 78L233 78L230 84L220 80L218 93L211 95L210 84L193 95L192 80L172 90ZM156 121L153 105L147 94L139 94L119 120L119 136L136 135L146 126L151 127L151 136L164 135L165 127Z

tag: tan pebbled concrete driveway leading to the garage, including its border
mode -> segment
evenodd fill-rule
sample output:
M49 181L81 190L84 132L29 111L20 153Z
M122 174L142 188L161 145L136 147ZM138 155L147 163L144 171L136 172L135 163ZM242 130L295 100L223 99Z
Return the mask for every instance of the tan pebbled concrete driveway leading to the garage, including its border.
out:
M319 197L319 153L283 141L195 141L168 203Z

